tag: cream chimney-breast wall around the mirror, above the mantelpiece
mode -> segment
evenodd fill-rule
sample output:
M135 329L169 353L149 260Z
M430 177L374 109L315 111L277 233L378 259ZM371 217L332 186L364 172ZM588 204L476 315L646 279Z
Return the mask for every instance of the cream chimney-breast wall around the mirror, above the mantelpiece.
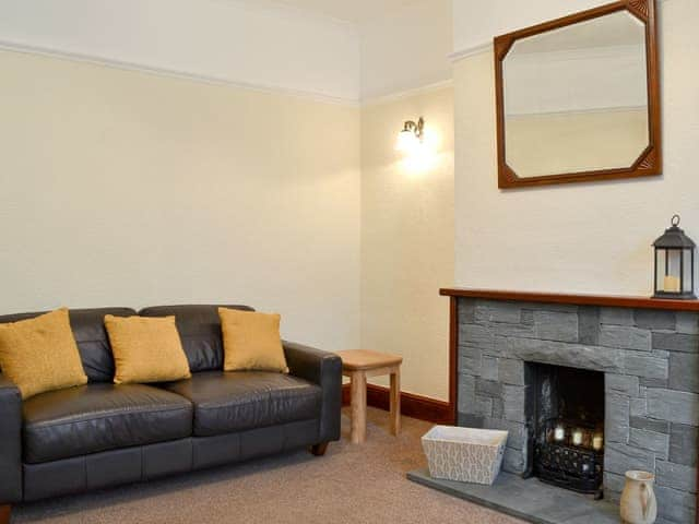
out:
M569 2L565 3L568 8ZM662 177L498 190L493 55L485 50L455 62L458 285L648 296L650 245L670 225L671 216L679 213L687 233L699 236L694 198L699 190L694 169L699 73L691 66L699 60L699 49L692 45L699 4L668 0L660 5ZM546 2L541 7L537 17L564 14L547 13ZM454 9L455 16L457 12ZM517 26L530 21L522 16ZM464 19L454 21L455 27L463 23ZM503 28L484 26L488 33ZM455 34L454 40L463 44L465 37Z

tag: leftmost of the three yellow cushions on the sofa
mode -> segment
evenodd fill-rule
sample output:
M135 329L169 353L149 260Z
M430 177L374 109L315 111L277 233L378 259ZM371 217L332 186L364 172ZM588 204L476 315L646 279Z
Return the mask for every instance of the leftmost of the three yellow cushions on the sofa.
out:
M68 309L0 324L0 368L22 398L86 384Z

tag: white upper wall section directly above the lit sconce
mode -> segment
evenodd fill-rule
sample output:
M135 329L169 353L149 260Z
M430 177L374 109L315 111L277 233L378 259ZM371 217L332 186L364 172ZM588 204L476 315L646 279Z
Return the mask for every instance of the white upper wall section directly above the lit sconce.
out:
M451 80L451 0L416 0L359 25L364 100Z

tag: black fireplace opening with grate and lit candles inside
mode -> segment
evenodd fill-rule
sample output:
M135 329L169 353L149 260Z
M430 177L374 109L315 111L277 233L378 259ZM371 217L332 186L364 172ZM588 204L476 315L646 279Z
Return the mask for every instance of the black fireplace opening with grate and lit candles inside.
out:
M604 373L528 362L529 464L524 476L602 498Z

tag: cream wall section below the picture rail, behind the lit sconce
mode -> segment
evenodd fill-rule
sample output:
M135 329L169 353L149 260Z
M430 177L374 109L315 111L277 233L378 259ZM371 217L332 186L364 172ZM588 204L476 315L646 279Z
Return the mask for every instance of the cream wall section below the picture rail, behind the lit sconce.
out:
M395 151L404 120L424 116L434 153L414 165ZM453 275L453 90L362 109L362 347L403 356L402 390L448 400ZM386 385L384 380L376 383Z

